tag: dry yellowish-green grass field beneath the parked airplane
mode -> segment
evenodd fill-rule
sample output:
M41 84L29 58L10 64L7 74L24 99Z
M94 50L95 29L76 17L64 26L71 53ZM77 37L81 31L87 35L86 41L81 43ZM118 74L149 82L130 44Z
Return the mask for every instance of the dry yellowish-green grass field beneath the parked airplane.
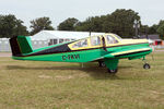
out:
M121 60L110 75L96 63L0 58L0 109L164 109L164 52Z

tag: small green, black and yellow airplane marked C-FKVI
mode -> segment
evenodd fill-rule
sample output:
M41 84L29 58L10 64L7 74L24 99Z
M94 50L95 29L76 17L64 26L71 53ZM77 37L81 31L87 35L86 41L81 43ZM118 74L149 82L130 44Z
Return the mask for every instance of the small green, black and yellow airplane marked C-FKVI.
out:
M12 58L15 60L57 62L98 62L116 73L119 59L143 59L152 52L148 39L122 39L116 34L104 34L33 49L31 38L16 36L10 39ZM144 63L144 69L150 69Z

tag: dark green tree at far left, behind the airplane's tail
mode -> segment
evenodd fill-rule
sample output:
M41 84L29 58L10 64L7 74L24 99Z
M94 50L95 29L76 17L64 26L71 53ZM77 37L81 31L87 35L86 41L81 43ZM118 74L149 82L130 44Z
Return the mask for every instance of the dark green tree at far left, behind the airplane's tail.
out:
M26 36L28 32L23 21L17 20L14 15L0 15L0 37Z

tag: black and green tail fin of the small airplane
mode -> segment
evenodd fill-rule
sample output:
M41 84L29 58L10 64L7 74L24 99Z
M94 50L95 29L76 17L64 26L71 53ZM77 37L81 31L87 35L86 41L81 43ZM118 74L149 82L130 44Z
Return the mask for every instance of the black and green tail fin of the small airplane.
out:
M10 39L12 56L19 57L33 51L30 37L16 36Z

